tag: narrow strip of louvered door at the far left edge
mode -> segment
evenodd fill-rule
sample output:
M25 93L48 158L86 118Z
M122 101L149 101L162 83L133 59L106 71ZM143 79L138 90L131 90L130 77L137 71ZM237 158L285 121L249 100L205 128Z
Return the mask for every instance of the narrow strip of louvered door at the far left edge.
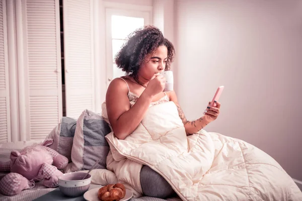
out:
M0 1L0 143L11 141L6 1Z

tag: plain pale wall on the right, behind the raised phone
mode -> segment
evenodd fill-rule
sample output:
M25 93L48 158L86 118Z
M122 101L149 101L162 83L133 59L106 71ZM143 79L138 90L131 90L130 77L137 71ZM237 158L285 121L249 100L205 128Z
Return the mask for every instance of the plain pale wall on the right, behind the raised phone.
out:
M302 1L176 1L177 93L188 119L224 85L207 131L245 140L302 180Z

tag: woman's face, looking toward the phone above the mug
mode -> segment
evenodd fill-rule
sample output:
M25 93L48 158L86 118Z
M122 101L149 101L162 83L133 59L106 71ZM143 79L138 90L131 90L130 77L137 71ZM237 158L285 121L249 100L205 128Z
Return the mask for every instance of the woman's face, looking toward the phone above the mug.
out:
M141 65L137 75L145 80L153 79L157 74L164 71L168 57L168 49L162 45L156 49L154 54L148 55Z

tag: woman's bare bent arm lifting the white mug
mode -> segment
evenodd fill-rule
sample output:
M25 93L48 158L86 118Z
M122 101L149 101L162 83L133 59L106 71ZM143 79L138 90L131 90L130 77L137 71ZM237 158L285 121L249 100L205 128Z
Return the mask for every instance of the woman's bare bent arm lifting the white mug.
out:
M106 93L106 108L110 125L118 139L125 139L139 125L145 116L153 97L165 87L163 76L150 80L133 107L128 99L128 87L122 79L111 81Z

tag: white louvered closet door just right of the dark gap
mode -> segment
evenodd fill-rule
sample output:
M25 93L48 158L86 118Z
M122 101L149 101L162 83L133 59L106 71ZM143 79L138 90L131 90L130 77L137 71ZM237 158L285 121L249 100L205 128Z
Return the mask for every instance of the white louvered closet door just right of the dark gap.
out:
M94 110L93 1L63 0L66 116Z

